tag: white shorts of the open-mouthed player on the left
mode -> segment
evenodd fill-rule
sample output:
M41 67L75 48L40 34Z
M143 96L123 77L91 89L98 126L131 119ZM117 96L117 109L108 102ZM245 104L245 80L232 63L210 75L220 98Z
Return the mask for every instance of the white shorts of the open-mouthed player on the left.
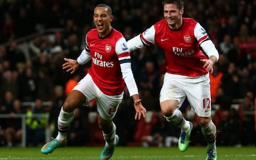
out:
M80 82L74 87L73 90L82 92L87 98L87 104L91 100L97 99L97 110L100 116L109 121L114 118L119 104L123 99L123 95L106 95L100 91L99 87L93 82L91 75L87 74Z

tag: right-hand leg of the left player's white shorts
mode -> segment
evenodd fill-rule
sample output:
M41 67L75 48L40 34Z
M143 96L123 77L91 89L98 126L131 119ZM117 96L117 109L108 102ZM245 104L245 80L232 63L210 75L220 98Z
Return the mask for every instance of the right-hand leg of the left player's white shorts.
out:
M110 121L116 115L118 106L120 105L123 94L119 95L106 95L102 93L99 89L97 92L97 109L98 113L102 119Z

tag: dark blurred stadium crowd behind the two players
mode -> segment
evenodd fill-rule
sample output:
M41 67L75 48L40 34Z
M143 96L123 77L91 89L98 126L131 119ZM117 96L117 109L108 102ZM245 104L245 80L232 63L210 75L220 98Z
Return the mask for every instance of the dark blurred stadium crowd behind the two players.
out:
M85 35L94 27L95 5L106 3L112 7L112 26L128 40L163 18L161 2L0 0L0 114L10 114L9 119L0 118L0 146L20 143L20 119L11 118L13 114L50 115L48 122L26 119L27 146L44 143L45 127L55 134L55 119L66 95L90 67L90 64L81 66L70 75L62 70L63 58L76 59L84 49ZM218 145L254 146L256 1L185 0L184 3L183 17L201 23L220 53L210 77ZM150 46L132 52L131 56L143 106L153 114L148 114L145 121L135 122L132 99L125 91L114 119L120 145L171 146L171 142L175 145L180 131L166 124L158 102L165 73L164 54L158 47ZM95 102L91 102L89 107L77 109L68 137L70 146L103 143L102 133L93 121L95 115L89 115L95 108ZM185 102L181 110L195 126L191 145L205 145L189 108ZM149 141L147 135L153 135L154 140Z

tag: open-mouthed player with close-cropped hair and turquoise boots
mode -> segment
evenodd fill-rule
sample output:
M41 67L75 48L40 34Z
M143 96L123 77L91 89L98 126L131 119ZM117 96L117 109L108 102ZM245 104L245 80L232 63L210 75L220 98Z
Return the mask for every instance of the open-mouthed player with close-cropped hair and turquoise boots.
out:
M63 103L58 117L57 138L42 147L43 154L65 146L67 132L74 118L74 110L84 103L97 99L99 127L106 141L100 159L109 159L119 140L112 119L122 101L125 84L134 101L135 119L145 117L146 109L139 99L131 70L130 52L123 35L111 27L110 22L113 20L111 14L111 8L108 5L97 5L93 14L96 28L87 33L85 49L76 60L65 58L67 62L62 67L71 74L79 65L90 60L92 64L88 74L74 87Z

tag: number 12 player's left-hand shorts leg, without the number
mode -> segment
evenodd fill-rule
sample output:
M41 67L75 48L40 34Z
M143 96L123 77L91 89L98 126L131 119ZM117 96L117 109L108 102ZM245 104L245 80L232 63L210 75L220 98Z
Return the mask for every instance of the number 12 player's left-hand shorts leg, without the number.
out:
M164 75L164 82L159 96L159 101L162 104L161 108L164 106L179 108L186 98L183 87L184 84L179 76L166 73ZM171 103L169 104L170 100L178 101L178 106L172 106ZM167 104L165 102L167 102Z

